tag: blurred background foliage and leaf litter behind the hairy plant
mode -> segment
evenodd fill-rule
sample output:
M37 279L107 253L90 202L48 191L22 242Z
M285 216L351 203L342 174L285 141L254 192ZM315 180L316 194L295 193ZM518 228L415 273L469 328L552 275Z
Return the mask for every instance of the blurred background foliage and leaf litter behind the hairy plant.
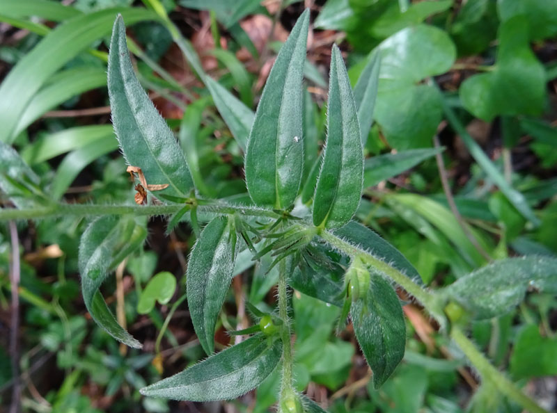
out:
M176 131L197 188L247 202L246 130L276 51L305 7L313 25L306 176L324 141L331 44L340 44L354 85L379 49L356 217L399 248L432 288L491 259L557 254L557 3L549 0L0 0L0 140L32 169L36 186L24 190L45 188L44 196L66 202L133 202L106 88L109 34L122 13L136 72ZM0 226L0 405L8 408L20 384L24 412L272 408L278 372L226 403L141 396L139 388L203 355L182 303L195 235L182 222L167 238L164 220L152 218L148 243L103 286L120 323L144 343L139 351L118 346L85 312L77 271L85 227L76 218L18 223L21 322L14 329L10 232ZM234 340L227 330L248 325L244 300L274 307L278 274L269 265L238 259L219 319L220 348ZM331 412L520 412L478 383L411 302L404 362L379 391L350 326L335 334L340 309L297 291L292 308L297 386ZM530 293L510 314L475 323L473 338L551 410L556 331L556 297Z

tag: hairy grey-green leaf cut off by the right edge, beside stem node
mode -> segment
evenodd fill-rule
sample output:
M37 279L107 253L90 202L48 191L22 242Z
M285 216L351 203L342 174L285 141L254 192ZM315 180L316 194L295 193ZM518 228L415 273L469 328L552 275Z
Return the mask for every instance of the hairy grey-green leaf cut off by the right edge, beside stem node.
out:
M557 293L557 259L518 257L495 261L450 284L448 297L477 319L492 318L517 306L528 289Z

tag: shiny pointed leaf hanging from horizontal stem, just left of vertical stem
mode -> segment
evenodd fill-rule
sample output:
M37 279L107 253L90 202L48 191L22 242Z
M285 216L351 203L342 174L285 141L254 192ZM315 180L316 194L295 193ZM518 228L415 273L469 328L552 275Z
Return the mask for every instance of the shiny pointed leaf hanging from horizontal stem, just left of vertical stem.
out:
M214 218L201 232L187 266L187 301L191 321L205 353L214 350L214 325L233 278L236 232L226 216Z

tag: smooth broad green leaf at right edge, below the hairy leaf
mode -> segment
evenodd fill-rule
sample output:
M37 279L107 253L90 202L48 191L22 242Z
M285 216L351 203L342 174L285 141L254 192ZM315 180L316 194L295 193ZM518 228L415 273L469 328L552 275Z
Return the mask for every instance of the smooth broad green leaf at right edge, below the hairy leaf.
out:
M542 337L538 325L523 327L512 349L510 372L517 379L557 375L557 340Z

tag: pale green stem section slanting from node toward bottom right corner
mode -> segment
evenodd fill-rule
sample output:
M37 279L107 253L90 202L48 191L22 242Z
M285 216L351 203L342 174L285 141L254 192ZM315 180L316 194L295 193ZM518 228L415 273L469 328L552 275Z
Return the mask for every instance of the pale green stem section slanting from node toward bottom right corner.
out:
M510 398L510 400L514 400L521 407L524 407L526 411L530 413L548 413L547 410L542 409L534 400L526 396L501 371L497 370L480 350L476 348L474 343L466 337L466 334L460 330L460 327L453 326L450 330L450 337L457 343L464 355L468 357L483 380L492 382L502 394Z

